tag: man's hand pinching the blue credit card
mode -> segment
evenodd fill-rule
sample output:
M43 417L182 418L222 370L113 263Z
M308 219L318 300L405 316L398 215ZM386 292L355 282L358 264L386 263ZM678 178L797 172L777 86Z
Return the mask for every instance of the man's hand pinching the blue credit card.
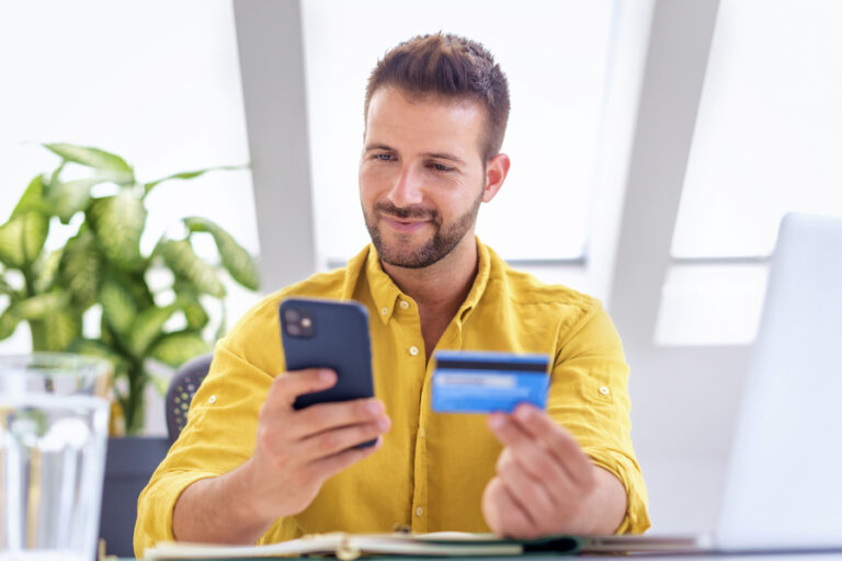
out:
M488 425L504 446L497 477L482 494L482 514L493 531L528 539L612 534L619 526L623 485L591 463L546 413L522 404L511 415L491 414Z

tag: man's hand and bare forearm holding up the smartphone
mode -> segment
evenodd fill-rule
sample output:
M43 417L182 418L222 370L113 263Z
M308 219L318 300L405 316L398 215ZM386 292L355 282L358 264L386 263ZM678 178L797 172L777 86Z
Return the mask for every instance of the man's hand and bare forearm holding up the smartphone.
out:
M390 426L379 400L293 409L298 396L335 382L335 373L316 368L277 376L260 411L252 457L184 490L173 510L175 538L254 543L275 519L304 511L325 480L379 448Z

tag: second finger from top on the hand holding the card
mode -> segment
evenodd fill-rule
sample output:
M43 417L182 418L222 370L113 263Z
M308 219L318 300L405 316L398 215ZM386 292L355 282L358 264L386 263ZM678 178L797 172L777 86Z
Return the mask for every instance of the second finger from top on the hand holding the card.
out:
M541 482L548 490L554 503L562 502L565 493L571 490L572 482L570 476L546 446L542 446L539 440L534 439L507 415L489 419L489 425L505 445L498 461L498 469L503 460L511 458L532 479Z

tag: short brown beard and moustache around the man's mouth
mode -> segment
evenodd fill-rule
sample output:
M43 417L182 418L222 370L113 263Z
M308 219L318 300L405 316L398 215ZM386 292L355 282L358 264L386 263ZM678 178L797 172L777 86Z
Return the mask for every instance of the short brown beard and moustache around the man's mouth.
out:
M474 226L480 203L482 203L481 191L471 207L450 224L444 224L436 210L421 207L401 208L387 202L375 204L371 213L363 207L363 215L365 216L365 227L368 229L372 243L374 243L380 261L398 267L423 268L441 261L458 245ZM384 240L378 226L379 218L384 214L390 218L429 220L434 229L433 234L416 247L410 247L408 243L409 236L402 233L395 234L398 241L388 243Z

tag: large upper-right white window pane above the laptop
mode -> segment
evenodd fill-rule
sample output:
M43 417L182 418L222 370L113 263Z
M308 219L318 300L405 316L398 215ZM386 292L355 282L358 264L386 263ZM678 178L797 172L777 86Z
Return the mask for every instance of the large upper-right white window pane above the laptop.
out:
M722 0L674 255L764 255L785 211L842 214L840 21L835 0Z

